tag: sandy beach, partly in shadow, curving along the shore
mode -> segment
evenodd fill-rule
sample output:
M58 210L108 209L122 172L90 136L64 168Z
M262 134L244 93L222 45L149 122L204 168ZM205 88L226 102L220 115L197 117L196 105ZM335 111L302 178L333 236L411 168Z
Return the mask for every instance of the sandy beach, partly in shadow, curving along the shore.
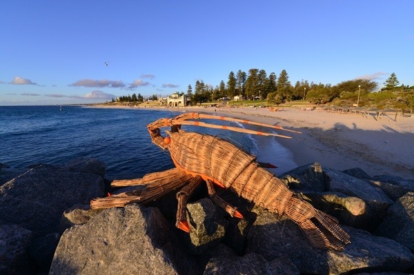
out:
M139 108L135 108L139 109ZM171 110L171 108L157 108ZM277 112L268 108L179 108L180 112L205 112L217 116L231 116L279 125L302 134L279 131L292 139L277 138L286 152L272 152L268 143L257 137L259 161L269 161L279 167L273 172L281 174L284 159L290 157L295 165L318 162L322 167L346 170L359 167L370 176L388 174L414 180L414 117L374 114L340 114L326 110L284 108ZM263 130L265 132L265 130Z

